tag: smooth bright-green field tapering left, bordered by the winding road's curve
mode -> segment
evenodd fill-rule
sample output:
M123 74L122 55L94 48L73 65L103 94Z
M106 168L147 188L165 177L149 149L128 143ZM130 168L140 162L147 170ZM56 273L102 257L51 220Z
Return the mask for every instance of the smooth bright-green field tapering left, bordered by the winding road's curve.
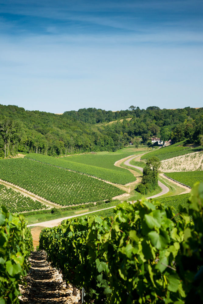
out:
M95 176L115 184L125 185L132 181L135 181L136 178L130 171L114 166L114 163L124 157L136 153L141 154L142 152L132 151L132 149L130 149L130 151L124 153L89 153L59 158L30 153L25 158Z

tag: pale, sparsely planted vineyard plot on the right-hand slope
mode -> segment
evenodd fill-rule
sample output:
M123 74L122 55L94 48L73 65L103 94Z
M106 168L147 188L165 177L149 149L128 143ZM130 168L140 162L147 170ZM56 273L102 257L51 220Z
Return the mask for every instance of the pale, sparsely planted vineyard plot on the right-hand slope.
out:
M194 152L161 161L160 170L163 172L202 170L203 152Z

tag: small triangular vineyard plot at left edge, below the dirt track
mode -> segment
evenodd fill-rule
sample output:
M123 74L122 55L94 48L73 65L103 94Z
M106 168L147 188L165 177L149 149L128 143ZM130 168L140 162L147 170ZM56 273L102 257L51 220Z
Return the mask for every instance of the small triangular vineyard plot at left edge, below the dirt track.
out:
M0 205L5 206L6 209L12 213L48 208L46 205L34 201L11 188L5 187L4 185L0 185Z

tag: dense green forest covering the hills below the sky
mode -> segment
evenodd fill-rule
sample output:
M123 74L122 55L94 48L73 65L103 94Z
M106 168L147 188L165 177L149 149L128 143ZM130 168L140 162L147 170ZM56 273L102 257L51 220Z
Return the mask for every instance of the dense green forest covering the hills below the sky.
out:
M115 123L108 124L111 121ZM0 105L0 157L17 152L60 155L116 151L131 141L149 144L151 136L202 144L202 134L203 108L152 106L145 110L130 106L117 112L89 108L57 115Z

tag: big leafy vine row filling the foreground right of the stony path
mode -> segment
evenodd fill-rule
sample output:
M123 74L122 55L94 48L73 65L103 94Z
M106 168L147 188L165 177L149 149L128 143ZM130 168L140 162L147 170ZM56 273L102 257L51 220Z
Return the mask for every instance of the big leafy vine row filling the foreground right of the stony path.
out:
M116 206L114 218L65 220L42 230L39 250L84 288L86 303L202 302L202 194L197 185L179 221L171 207L146 199Z

